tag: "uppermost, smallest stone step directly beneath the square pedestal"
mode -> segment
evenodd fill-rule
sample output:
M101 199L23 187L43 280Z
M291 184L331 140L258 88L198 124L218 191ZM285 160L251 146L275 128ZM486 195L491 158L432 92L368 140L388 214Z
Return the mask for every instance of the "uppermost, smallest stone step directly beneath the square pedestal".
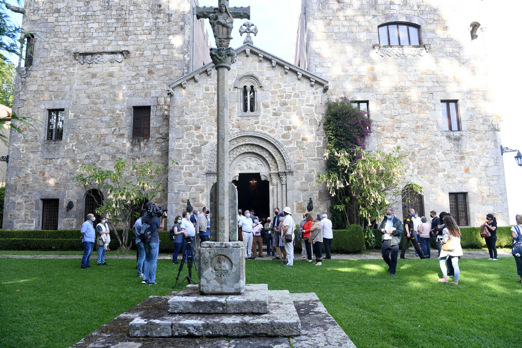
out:
M187 285L169 300L169 313L266 313L268 285L246 284L241 295L201 295L198 285Z

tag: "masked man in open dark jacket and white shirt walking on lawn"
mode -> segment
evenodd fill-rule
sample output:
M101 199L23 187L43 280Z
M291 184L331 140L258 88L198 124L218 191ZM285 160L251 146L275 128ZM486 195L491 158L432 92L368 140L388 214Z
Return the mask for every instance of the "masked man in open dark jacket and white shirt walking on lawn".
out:
M379 230L382 233L381 254L384 262L388 265L389 274L395 276L400 236L402 235L402 223L397 217L395 217L392 208L386 209L386 216L383 218ZM391 259L390 254L392 256Z

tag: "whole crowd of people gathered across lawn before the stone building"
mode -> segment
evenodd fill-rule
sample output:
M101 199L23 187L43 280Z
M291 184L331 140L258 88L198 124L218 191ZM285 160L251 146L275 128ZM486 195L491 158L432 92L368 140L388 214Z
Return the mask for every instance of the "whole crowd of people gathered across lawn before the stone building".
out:
M147 207L147 206L146 206ZM182 215L177 215L174 224L170 229L170 238L174 245L172 253L172 264L179 264L179 253L182 252L182 262L187 262L193 248L189 247L192 240L198 234L198 243L203 243L210 239L210 210L204 206L201 213L196 208L193 212L184 211ZM393 208L386 210L378 230L381 231L381 253L384 261L388 265L388 272L395 276L397 272L397 259L399 256L399 243L404 233L400 258L405 259L405 252L411 241L415 254L421 259L431 258L430 238L433 238L437 258L440 260L440 267L443 277L439 282L448 283L449 278L453 277L451 283L458 284L460 268L458 260L463 255L460 243L460 229L455 222L452 214L442 212L437 216L436 211L430 212L431 221L424 216L419 217L416 211L409 209L404 218L403 224L398 219ZM282 264L292 266L294 262L294 246L296 242L301 242L301 258L308 262L313 262L312 254L315 256L314 265L322 264L322 247L326 251L325 259L331 259L330 249L333 240L332 223L327 214L317 214L313 217L310 213L304 213L299 225L298 233L295 235L296 224L292 217L289 207L274 209L274 217L259 218L255 216L254 210L238 210L239 239L245 246L245 258L256 259L264 258L263 242L267 245L266 257L273 257L272 260L281 260ZM159 232L164 229L163 213L161 219L157 215L147 213L143 209L133 226L135 233L135 244L137 249L137 276L142 284L155 285L156 267L159 252ZM101 222L94 228L96 217L93 214L87 215L87 221L81 226L81 241L84 246L84 256L81 259L81 268L90 267L90 254L96 242L98 246L97 265L107 265L105 262L105 252L110 251L110 229L106 223L105 216L101 216ZM513 256L515 257L517 273L520 276L519 283L522 282L522 215L516 215L516 224L512 227ZM485 243L488 247L489 260L497 260L496 250L496 218L493 214L487 214L481 228L487 229L488 236ZM147 231L147 240L141 240ZM98 238L96 235L98 234Z

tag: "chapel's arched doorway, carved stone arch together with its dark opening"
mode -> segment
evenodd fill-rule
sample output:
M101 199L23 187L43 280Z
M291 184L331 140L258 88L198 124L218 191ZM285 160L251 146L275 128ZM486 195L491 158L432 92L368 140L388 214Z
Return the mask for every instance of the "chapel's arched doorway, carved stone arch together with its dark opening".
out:
M271 135L256 131L230 135L229 173L238 187L241 208L253 207L256 215L267 215L276 206L282 209L289 205L288 192L292 190L293 177L290 156ZM216 148L210 154L206 175L210 192L216 181Z

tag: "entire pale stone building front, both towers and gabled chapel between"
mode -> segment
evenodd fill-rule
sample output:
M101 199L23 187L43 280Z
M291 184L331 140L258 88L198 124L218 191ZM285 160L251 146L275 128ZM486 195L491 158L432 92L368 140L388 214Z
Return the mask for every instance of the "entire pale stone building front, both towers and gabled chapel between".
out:
M455 212L462 226L494 213L507 224L479 44L486 19L462 3L303 0L293 63L253 44L235 49L229 170L239 207L268 216L288 205L296 221L310 199L314 212L328 210L326 188L315 185L325 170L321 120L326 99L346 95L369 110L366 149L409 153L411 180L425 189L418 211ZM19 66L13 109L39 125L11 132L4 228L79 228L96 204L71 178L80 164L110 169L119 157L165 167L156 202L170 215L187 200L208 206L216 71L196 2L78 4L25 3L23 27L38 35L25 38L34 54ZM237 34L242 21L234 24Z

